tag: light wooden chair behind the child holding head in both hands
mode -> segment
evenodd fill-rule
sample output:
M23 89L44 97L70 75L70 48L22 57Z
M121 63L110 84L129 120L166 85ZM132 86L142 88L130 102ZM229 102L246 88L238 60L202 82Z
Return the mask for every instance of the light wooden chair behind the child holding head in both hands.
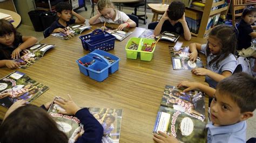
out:
M158 15L164 15L164 12L168 9L169 4L172 2L172 0L167 0L167 4L165 4L165 0L162 1L162 3L149 3L147 4L149 8L152 10L153 17L152 22L158 21Z

